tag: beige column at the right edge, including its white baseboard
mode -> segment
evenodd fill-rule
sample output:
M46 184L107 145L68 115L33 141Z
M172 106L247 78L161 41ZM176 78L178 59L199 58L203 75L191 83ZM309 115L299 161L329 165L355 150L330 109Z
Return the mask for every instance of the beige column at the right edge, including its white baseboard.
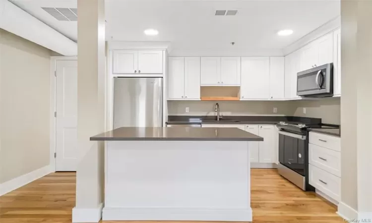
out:
M341 203L372 221L372 1L341 1ZM368 222L368 221L367 221Z

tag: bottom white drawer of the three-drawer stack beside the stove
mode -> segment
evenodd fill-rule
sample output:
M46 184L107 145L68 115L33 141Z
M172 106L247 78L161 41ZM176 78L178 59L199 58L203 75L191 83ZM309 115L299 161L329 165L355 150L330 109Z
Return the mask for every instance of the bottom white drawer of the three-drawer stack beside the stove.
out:
M309 165L309 183L329 197L340 201L341 178Z

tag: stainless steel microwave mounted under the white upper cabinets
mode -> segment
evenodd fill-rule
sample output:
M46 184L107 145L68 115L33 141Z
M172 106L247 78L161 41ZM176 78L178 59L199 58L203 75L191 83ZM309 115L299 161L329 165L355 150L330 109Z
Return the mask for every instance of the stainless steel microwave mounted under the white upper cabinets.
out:
M297 95L301 97L332 97L333 63L298 72Z

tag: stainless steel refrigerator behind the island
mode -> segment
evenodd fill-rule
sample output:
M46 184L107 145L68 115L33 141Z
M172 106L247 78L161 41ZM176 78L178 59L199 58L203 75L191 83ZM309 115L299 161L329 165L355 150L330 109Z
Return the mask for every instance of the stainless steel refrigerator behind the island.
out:
M163 78L114 78L114 129L163 126Z

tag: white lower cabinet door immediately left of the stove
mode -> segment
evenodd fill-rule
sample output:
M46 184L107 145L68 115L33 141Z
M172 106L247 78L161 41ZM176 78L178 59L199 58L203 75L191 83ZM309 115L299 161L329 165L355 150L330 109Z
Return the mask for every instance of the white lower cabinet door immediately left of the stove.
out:
M260 125L258 129L259 136L263 142L259 142L259 162L275 163L275 129L273 125Z

